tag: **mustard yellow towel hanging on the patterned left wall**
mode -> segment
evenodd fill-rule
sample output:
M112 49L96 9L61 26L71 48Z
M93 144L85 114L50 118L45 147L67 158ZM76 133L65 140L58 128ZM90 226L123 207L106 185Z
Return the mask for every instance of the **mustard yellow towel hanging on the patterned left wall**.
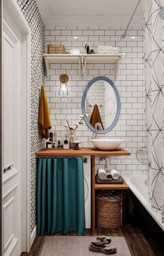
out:
M49 137L51 121L44 86L41 87L38 123L41 138L43 139L45 137L47 139Z

